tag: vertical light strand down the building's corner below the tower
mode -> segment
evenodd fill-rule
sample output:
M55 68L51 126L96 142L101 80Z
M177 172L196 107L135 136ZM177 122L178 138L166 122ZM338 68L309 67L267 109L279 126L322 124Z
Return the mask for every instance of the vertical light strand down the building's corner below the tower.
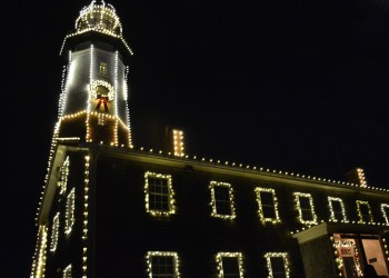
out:
M88 277L88 215L89 215L89 160L86 156L84 165L84 192L83 192L83 226L82 226L82 278Z

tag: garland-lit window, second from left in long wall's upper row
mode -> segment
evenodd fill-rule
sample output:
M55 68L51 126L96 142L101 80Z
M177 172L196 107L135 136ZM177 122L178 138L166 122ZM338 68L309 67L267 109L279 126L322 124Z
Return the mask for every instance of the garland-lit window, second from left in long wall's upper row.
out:
M233 206L233 192L230 183L210 182L212 217L233 219L236 217Z

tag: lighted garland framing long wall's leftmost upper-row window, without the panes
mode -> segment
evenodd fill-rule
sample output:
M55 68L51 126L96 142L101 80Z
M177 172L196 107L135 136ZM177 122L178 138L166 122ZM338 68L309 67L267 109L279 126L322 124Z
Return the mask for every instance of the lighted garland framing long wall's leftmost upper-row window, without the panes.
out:
M166 179L168 182L169 210L150 209L149 178ZM171 175L162 175L147 171L144 173L146 211L152 216L170 216L176 214L174 191L171 182Z

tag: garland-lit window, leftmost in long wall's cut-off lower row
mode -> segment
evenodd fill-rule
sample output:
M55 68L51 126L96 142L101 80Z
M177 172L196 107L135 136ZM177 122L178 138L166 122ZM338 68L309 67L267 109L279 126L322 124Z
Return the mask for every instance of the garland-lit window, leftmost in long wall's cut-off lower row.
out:
M179 278L177 252L149 251L146 256L149 278Z

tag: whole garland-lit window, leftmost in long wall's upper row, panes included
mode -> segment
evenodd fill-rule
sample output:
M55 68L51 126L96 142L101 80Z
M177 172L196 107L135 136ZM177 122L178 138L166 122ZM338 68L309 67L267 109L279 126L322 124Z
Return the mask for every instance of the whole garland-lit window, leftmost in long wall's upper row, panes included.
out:
M153 216L168 216L176 212L174 192L170 175L146 172L146 210Z

